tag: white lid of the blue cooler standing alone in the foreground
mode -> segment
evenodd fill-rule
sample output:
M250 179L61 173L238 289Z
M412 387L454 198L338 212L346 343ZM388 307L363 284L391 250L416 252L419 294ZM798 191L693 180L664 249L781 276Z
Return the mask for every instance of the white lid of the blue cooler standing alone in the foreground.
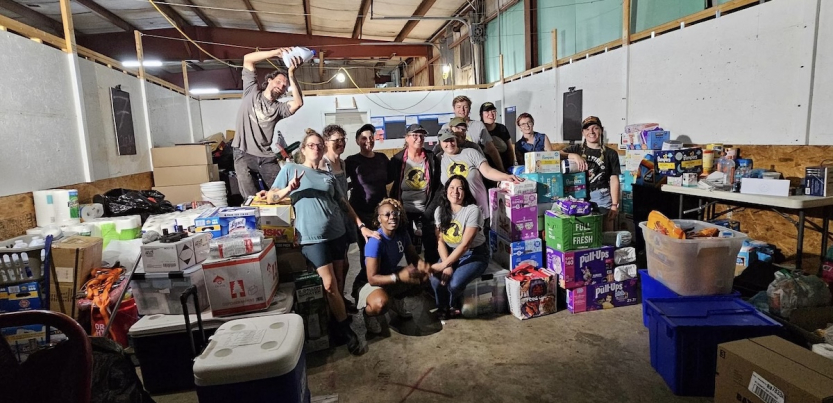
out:
M225 323L194 360L197 386L275 378L298 365L304 349L304 321L290 313Z

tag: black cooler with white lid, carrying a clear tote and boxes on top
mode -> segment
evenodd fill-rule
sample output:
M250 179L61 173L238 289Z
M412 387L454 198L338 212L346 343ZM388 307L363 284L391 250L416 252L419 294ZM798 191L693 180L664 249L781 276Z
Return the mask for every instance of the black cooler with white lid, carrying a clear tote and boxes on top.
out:
M273 304L265 311L215 318L211 311L202 313L203 328L210 336L223 323L231 320L258 316L274 316L289 313L295 301L295 284L278 286ZM200 300L200 307L208 301ZM191 313L191 337L199 342L197 315ZM130 327L130 345L139 360L145 389L153 394L175 392L194 388L191 342L185 330L183 315L147 315Z

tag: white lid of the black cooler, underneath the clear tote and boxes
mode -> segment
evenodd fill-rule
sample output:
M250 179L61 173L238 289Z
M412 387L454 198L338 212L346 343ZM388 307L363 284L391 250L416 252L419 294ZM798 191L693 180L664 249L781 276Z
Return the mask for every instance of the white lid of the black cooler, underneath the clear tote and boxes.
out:
M163 273L166 274L166 273ZM275 303L265 311L251 312L242 315L215 318L211 311L202 312L202 324L205 329L216 329L223 323L240 318L254 318L259 316L275 316L288 313L295 302L295 283L284 283L278 287L274 298ZM208 301L200 301L200 305L208 307ZM202 307L202 306L201 306ZM197 330L197 314L189 315L191 329ZM130 337L149 337L161 334L179 333L185 331L185 317L182 315L145 315L130 327Z

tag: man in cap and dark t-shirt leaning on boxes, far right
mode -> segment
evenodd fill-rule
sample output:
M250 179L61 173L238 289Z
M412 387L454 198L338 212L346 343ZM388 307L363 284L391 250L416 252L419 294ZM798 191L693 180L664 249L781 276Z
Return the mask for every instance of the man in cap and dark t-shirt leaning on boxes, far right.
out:
M605 145L604 126L596 116L588 116L581 122L584 141L565 148L561 154L569 158L578 154L587 164L587 187L590 201L606 215L604 230L611 231L619 214L619 153ZM579 164L581 167L582 164Z

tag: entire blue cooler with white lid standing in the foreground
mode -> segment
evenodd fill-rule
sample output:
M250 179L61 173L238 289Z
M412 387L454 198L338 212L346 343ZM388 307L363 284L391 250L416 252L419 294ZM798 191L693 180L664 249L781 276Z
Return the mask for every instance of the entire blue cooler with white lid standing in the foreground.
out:
M304 322L296 314L237 319L194 360L200 403L309 402Z

